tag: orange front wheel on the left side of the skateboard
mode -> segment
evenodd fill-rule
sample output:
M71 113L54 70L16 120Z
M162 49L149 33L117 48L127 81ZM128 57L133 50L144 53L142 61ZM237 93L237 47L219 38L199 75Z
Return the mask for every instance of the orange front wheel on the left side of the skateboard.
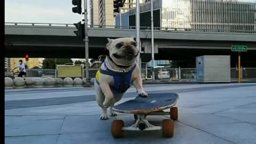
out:
M111 133L115 138L124 137L124 131L122 128L124 127L124 121L122 120L114 120L111 125Z

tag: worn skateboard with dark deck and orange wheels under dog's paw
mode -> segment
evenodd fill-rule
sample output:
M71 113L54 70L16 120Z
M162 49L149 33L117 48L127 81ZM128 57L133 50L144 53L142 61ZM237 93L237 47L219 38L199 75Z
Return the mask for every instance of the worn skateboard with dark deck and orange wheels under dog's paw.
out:
M117 113L133 114L135 124L124 126L124 121L114 120L111 125L113 137L123 137L124 131L162 130L163 137L171 138L174 133L174 122L178 119L178 107L174 107L179 99L176 93L151 93L147 98L136 97L113 107ZM170 112L165 112L170 109ZM148 122L148 115L170 115L171 119L163 119L162 126Z

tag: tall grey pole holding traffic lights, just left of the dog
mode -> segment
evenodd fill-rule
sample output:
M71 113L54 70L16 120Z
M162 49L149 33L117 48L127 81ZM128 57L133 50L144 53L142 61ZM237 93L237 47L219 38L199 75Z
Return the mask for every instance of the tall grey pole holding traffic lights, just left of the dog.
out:
M89 82L89 38L87 27L87 1L84 0L84 34L85 34L85 78L86 82Z

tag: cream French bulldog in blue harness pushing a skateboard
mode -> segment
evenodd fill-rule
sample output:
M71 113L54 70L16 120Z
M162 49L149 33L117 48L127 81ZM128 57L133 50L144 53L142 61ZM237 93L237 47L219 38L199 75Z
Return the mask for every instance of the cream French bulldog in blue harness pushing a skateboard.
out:
M107 108L111 116L117 114L112 110L115 102L121 100L131 83L137 89L140 97L148 97L143 90L140 69L136 58L139 54L137 43L133 38L109 39L107 55L95 78L96 100L102 108L100 119L108 119Z

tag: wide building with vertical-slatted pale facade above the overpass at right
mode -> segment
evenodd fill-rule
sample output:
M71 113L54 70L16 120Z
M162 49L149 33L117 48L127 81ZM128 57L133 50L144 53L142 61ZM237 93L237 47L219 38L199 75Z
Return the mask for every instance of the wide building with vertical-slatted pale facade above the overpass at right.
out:
M153 0L154 26L164 30L222 31L256 33L256 1L235 0ZM140 5L140 26L149 27L150 2ZM135 26L135 7L126 13ZM123 20L122 20L123 21ZM116 23L118 25L118 23Z

